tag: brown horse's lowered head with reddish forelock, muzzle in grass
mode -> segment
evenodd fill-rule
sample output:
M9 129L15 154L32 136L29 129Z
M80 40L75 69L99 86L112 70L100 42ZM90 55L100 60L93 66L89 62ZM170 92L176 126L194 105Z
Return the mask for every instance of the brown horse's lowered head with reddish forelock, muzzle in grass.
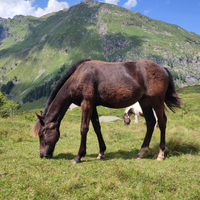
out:
M33 127L33 133L40 139L40 157L52 158L56 142L60 137L59 124L45 123L45 116L38 114L36 116L38 121Z

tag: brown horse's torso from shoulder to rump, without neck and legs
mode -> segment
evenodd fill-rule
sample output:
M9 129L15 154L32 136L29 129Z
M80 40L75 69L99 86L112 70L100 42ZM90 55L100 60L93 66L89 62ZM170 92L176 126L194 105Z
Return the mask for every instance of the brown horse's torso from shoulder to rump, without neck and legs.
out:
M149 60L109 63L91 60L82 63L72 75L74 94L95 98L97 105L124 108L143 95L162 92L164 68Z

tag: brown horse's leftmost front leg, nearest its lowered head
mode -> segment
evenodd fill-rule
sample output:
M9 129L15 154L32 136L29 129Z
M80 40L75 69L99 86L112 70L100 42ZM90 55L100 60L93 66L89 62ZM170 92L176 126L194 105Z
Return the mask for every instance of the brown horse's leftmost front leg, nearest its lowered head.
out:
M82 120L81 120L81 144L77 156L72 161L73 164L79 163L81 158L86 155L86 141L87 133L89 130L89 122L92 116L93 108L88 101L83 101L81 103L82 110Z

